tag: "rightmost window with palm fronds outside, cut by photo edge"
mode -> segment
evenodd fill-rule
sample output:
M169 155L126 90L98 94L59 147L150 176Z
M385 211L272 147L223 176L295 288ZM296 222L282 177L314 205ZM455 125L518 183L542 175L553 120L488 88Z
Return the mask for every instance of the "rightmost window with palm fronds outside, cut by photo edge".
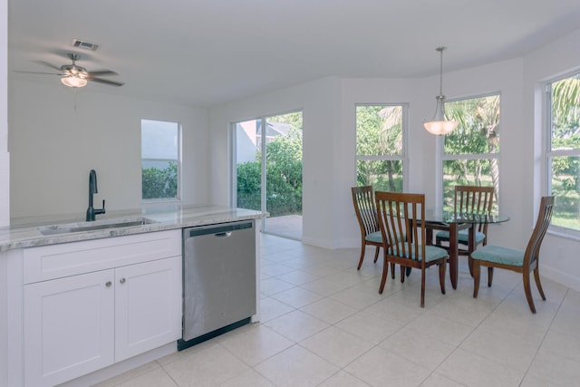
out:
M552 225L580 231L580 73L547 84L547 192Z

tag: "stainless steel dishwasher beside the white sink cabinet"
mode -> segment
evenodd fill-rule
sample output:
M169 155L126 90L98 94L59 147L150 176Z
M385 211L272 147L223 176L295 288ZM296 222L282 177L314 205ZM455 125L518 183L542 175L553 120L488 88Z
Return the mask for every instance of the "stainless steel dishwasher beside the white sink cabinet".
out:
M183 229L182 350L256 314L253 220Z

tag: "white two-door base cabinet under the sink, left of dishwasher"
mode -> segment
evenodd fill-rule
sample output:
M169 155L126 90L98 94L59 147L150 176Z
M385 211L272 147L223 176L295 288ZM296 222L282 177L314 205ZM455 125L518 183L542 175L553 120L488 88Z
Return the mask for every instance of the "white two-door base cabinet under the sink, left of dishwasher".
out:
M24 251L24 278L41 279L24 285L27 386L66 382L181 336L179 230L94 242ZM77 274L75 258L100 270Z

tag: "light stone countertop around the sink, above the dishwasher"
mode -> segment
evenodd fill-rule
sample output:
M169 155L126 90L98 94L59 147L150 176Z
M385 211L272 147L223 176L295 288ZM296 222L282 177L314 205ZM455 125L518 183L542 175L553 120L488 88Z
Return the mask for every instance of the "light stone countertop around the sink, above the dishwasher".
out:
M47 216L13 218L10 227L0 227L0 252L14 248L38 247L103 237L121 237L176 228L208 226L237 220L264 218L267 216L267 213L245 208L230 208L216 205L168 205L135 210L111 211L104 215L98 215L97 220L94 222L85 222L84 214L78 217ZM41 233L41 229L47 226L98 226L139 218L147 218L152 222L139 226L65 232L63 234L53 235L43 235Z

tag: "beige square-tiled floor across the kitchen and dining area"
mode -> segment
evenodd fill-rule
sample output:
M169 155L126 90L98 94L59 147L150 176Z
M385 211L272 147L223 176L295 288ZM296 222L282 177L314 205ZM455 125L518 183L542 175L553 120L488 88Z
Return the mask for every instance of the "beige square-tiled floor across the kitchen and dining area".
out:
M98 384L105 386L572 386L580 380L580 293L543 279L531 314L521 276L496 270L478 299L467 263L441 295L428 271L387 281L369 251L262 236L261 322ZM398 273L397 273L398 274ZM448 275L449 277L449 275Z

